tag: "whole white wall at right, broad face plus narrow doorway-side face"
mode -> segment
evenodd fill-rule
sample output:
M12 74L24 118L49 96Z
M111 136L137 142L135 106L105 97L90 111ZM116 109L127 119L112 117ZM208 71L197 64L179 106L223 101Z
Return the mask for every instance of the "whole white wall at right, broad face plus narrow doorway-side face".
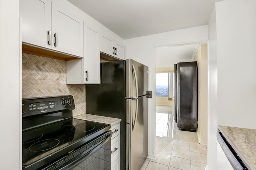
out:
M221 1L209 22L208 170L219 164L218 125L256 129L256 1Z

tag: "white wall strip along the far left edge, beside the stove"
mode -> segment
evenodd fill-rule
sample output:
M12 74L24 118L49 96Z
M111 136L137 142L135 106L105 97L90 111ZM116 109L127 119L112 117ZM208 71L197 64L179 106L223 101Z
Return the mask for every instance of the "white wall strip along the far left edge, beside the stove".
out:
M0 0L0 170L22 169L19 0Z

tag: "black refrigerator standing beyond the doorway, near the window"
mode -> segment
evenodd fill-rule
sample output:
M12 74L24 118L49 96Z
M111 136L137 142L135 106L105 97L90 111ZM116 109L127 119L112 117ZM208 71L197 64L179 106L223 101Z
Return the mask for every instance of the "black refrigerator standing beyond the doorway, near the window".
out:
M198 69L197 62L174 65L175 113L179 130L196 132L198 127Z

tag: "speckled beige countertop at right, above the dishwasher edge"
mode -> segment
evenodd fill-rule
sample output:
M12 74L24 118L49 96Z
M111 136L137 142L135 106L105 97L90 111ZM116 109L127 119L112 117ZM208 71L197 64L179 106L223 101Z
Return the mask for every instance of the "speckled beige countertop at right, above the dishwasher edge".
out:
M256 170L256 129L219 126L238 156L249 170Z

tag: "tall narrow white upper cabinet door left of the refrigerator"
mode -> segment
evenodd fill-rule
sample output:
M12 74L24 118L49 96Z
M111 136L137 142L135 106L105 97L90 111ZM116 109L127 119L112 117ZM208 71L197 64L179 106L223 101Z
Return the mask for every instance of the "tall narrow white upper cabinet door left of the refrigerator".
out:
M100 29L84 28L84 84L100 84Z

